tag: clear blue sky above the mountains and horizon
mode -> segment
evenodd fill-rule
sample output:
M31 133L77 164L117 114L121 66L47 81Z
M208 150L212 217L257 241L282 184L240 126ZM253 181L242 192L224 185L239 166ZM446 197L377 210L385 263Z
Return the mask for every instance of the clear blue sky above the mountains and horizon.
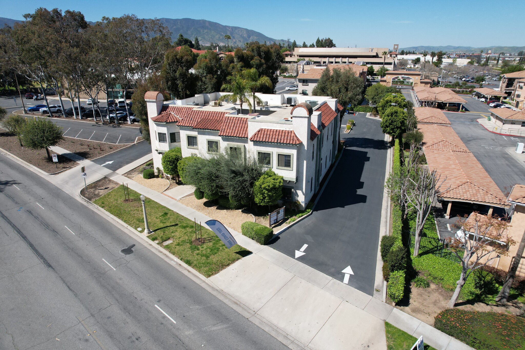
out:
M275 39L291 38L299 44L310 44L319 36L332 38L339 47L525 46L525 37L508 35L512 24L522 32L523 0L506 1L502 8L486 0L2 2L0 16L14 19L23 19L37 6L78 10L93 22L123 14L188 17L257 30Z

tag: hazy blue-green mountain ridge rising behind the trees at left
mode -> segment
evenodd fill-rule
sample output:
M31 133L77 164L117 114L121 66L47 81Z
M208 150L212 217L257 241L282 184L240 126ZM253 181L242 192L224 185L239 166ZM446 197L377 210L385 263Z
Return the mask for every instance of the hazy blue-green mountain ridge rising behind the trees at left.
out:
M220 23L205 19L159 18L159 20L171 30L171 38L173 41L177 40L179 34L182 34L192 41L197 37L202 45L208 45L209 43L226 45L225 35L232 37L229 39L229 44L233 46L241 46L250 41L259 41L261 44L265 41L268 44L274 43L274 41L276 43L286 43L286 40L270 38L255 30L224 26ZM0 27L3 27L4 24L13 27L16 22L22 21L0 17ZM88 23L93 24L92 22Z

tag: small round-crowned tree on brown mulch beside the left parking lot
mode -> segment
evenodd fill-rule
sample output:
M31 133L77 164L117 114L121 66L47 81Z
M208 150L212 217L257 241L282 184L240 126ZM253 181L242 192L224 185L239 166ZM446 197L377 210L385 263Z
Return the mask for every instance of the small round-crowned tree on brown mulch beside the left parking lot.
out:
M45 149L48 160L51 160L49 147L64 140L62 132L60 126L48 119L29 119L22 128L22 142L31 150Z

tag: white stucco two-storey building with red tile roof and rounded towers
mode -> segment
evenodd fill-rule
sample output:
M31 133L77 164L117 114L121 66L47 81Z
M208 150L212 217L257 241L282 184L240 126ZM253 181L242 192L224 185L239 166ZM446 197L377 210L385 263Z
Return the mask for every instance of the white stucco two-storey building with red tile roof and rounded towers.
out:
M198 105L187 105L146 92L154 167L162 169L162 154L174 147L181 147L183 157L236 150L281 175L282 200L304 208L335 160L343 111L337 99L258 93L264 105L240 114L238 104L217 102L222 94L197 95L192 102Z

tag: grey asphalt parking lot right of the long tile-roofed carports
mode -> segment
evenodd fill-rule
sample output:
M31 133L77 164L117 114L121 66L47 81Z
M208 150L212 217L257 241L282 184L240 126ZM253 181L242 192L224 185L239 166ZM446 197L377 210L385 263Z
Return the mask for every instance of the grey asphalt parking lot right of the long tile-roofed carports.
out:
M506 147L514 149L517 142L525 142L525 137L491 133L476 122L482 118L479 114L445 112L445 115L452 129L503 193L510 191L510 186L525 182L523 166L505 151Z

